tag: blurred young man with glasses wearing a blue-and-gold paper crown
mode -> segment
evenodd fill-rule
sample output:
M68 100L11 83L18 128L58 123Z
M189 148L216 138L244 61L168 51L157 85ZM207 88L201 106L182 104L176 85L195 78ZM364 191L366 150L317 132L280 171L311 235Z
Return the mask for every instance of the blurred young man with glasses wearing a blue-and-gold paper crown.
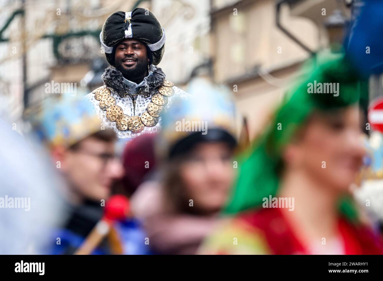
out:
M117 137L111 128L102 125L88 102L65 94L47 99L31 116L34 132L49 149L52 165L67 183L62 194L68 207L63 215L67 218L50 238L50 253L72 254L101 219L114 182L123 176L115 154ZM119 222L92 253L146 253L144 238L138 224ZM141 240L142 245L138 242ZM137 247L131 247L130 252L124 250L128 242Z

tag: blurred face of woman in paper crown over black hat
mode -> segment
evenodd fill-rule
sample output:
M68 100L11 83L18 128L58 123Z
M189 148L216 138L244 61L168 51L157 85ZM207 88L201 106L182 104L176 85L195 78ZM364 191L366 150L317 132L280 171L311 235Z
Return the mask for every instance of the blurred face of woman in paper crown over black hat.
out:
M199 213L221 210L228 199L234 168L232 151L225 143L201 143L183 161L180 176L186 199Z

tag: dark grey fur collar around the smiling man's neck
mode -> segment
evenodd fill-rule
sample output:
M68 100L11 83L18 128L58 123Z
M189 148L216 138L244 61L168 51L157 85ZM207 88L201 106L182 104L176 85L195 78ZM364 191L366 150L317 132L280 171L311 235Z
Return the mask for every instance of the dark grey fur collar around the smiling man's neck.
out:
M144 78L144 83L139 87L133 86L136 85L135 83L132 83L130 86L126 85L121 71L112 66L105 69L101 78L106 86L115 89L115 91L123 97L125 93L133 94L137 92L139 88L146 88L146 86L149 86L148 89L150 93L162 86L166 77L164 71L162 71L161 68L151 65L150 72L149 75Z

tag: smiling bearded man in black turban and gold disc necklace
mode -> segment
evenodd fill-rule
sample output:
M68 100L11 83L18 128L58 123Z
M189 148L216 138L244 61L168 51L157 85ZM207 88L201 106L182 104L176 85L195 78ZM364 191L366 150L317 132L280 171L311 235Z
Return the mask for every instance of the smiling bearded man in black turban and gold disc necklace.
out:
M173 96L187 95L156 67L165 39L158 19L143 8L118 11L104 23L100 41L111 66L102 75L105 85L86 97L105 127L113 128L120 139L159 131L160 113Z

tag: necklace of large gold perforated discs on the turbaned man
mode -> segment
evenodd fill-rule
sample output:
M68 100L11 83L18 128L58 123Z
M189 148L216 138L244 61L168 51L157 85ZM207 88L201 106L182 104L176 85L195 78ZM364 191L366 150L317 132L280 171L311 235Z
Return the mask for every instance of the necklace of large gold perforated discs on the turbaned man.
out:
M111 91L106 85L95 89L92 93L95 94L95 99L100 101L99 106L106 111L106 118L112 122L116 122L116 128L120 131L129 130L133 133L139 133L146 127L154 127L157 125L160 113L164 106L168 103L168 97L173 96L174 83L165 80L162 86L158 88L158 93L152 95L151 102L147 105L147 110L141 115L136 116L136 101L133 94L124 94L124 97L130 96L133 102L133 116L124 114L124 110L116 105L116 99L111 96ZM139 90L138 94L141 94Z

